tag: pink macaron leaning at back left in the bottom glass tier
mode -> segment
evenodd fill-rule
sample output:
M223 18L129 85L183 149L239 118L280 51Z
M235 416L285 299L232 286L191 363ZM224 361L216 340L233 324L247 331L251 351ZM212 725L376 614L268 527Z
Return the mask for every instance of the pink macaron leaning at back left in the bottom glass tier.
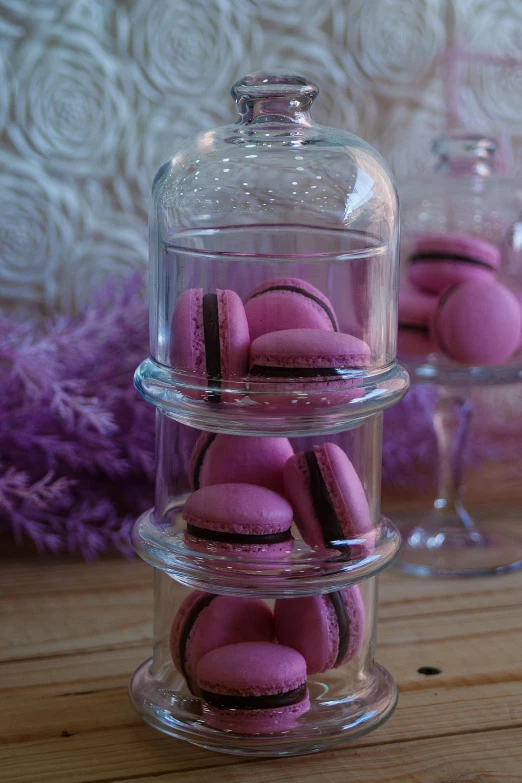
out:
M273 615L263 601L194 590L172 623L170 652L189 690L198 695L196 667L208 652L226 644L273 639Z

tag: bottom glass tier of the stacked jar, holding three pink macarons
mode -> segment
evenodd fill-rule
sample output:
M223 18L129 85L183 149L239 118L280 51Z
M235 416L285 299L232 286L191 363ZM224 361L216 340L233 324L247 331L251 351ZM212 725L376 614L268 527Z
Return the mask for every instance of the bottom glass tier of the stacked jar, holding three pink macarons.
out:
M155 571L153 656L135 673L140 716L171 736L248 756L313 753L358 737L396 703L374 662L377 579L261 600ZM284 671L284 676L281 672Z

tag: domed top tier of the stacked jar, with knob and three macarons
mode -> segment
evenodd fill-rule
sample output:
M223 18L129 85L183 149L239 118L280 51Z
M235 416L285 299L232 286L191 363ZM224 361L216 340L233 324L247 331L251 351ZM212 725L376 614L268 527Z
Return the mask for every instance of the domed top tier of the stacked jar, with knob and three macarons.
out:
M256 73L235 124L153 184L151 357L138 389L206 430L353 426L397 401L398 207L378 154L313 122L318 89Z

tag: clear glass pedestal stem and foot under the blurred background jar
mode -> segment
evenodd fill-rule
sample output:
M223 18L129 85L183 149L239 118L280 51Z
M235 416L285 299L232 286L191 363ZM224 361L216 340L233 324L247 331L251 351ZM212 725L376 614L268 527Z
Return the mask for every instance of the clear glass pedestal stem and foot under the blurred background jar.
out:
M426 514L397 519L403 536L397 567L415 576L469 577L502 574L522 568L520 532L502 511L473 519L462 500L465 447L472 417L472 387L522 380L519 367L456 368L404 362L415 383L439 388L433 426L438 447L438 490Z

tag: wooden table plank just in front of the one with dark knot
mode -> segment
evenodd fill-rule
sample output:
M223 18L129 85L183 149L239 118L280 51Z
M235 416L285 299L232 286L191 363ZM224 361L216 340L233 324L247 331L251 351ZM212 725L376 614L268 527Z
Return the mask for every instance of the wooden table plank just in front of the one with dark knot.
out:
M63 731L77 735L140 726L129 702L127 682L117 687L110 687L109 682L92 681L76 692L55 693L46 685L0 692L0 743L54 739ZM522 682L432 686L401 693L393 717L377 733L357 740L357 745L510 726L522 726Z

